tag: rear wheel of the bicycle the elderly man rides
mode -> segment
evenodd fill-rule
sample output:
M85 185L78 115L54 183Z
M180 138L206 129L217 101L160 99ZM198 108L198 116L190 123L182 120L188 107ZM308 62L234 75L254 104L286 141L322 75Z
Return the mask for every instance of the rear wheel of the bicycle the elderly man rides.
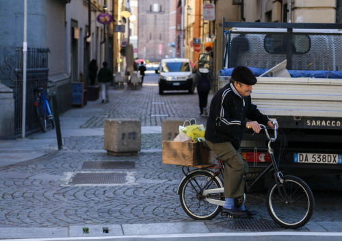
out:
M179 199L185 213L196 220L215 218L221 206L208 203L205 196L202 196L203 189L222 188L222 183L218 177L213 177L212 173L199 170L190 173L189 178L185 178L179 186ZM211 199L224 200L222 193L211 194Z

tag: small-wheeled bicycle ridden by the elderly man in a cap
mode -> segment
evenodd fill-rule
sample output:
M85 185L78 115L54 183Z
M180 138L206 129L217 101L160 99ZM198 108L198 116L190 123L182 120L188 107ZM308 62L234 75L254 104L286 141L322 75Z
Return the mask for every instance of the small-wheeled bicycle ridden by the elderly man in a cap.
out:
M246 189L251 190L257 181L267 173L272 172L275 183L269 187L266 195L266 206L269 215L280 225L289 229L297 229L308 223L313 215L315 199L309 186L299 177L282 175L278 170L278 164L271 147L272 142L277 138L276 121L274 125L274 138L265 130L268 139L268 152L272 163L260 173L252 183L246 183ZM187 168L187 171L185 170ZM185 175L179 183L177 194L185 213L196 220L212 219L217 216L224 205L224 188L222 183L222 171L224 166L222 160L217 164L195 166L196 169L189 170L189 166L183 166ZM244 204L246 196L235 199L235 204ZM234 216L228 216L234 218Z

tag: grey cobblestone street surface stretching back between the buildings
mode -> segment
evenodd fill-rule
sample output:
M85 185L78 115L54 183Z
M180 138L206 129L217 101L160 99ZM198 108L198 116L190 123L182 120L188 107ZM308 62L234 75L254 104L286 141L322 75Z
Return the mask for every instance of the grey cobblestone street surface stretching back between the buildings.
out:
M140 90L111 88L109 103L101 103L100 98L83 107L90 108L92 114L80 128L103 128L105 118L123 117L140 119L143 127L161 126L167 116L196 118L205 124L205 118L199 116L196 93L159 95L157 75L148 74L145 81ZM62 127L66 118L76 120L81 112L74 109L63 114ZM86 162L133 162L133 168L85 168ZM124 182L73 184L77 173L122 173ZM107 155L103 135L64 137L61 151L47 150L42 157L0 168L0 227L196 222L185 214L176 194L182 177L180 166L161 163L161 134L142 134L142 151L124 157ZM316 210L302 230L310 229L314 222L341 222L341 180L328 177L325 182L308 182L316 187ZM267 223L267 230L282 230L269 217L264 195L248 194L246 205L260 212L252 220ZM211 232L246 229L220 215L204 223Z

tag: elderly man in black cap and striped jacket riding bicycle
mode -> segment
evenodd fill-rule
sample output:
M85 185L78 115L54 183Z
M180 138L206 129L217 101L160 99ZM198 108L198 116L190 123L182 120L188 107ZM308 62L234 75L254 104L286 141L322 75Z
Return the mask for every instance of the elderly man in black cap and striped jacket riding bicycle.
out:
M246 66L233 69L229 84L218 90L211 100L205 140L224 162L224 196L222 216L253 216L258 212L236 205L234 200L244 196L245 175L248 164L239 147L245 128L260 132L259 123L274 128L272 121L261 114L250 98L257 78ZM248 121L246 121L248 119Z

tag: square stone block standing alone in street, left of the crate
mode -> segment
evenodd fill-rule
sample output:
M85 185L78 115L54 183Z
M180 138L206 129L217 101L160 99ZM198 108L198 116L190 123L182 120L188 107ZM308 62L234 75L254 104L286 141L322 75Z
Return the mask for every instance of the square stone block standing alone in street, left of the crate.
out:
M105 119L103 149L109 155L137 155L142 149L142 127L135 119Z

